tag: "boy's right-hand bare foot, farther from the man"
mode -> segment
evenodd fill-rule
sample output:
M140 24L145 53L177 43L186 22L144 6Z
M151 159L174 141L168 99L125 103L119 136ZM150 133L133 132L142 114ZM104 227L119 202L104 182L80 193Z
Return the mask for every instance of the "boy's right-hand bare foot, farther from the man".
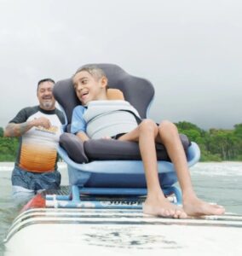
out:
M222 215L225 212L224 207L211 205L205 201L201 201L196 196L183 198L183 209L188 216L199 217L203 215Z

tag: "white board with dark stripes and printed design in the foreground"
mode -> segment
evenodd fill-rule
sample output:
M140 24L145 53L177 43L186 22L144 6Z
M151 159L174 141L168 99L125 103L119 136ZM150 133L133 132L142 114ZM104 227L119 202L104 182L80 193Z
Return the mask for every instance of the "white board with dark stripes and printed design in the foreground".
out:
M31 209L15 219L5 256L242 255L242 216L171 219L139 210Z

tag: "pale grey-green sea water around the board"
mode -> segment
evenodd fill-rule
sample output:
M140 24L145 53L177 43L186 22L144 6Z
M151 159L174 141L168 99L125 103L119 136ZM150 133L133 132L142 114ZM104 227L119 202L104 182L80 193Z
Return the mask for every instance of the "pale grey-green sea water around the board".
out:
M11 200L13 163L0 163L0 256L3 239L20 211ZM68 184L66 164L60 163L62 185ZM242 162L198 163L191 168L194 189L205 201L216 202L226 212L242 214Z

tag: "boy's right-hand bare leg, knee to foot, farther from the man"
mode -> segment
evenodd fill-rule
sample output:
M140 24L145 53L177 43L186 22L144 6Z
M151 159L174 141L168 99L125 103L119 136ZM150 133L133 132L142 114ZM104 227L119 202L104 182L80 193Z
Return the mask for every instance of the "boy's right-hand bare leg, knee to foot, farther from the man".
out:
M199 200L193 190L190 172L187 166L187 158L176 125L170 121L164 121L158 126L157 141L163 143L175 166L178 181L182 189L183 209L190 216L219 215L224 208L210 205Z

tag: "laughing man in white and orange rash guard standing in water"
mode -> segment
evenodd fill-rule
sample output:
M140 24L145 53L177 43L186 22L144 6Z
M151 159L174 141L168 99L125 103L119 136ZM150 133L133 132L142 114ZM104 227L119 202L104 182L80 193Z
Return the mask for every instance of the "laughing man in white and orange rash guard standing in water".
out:
M20 137L12 173L13 196L18 201L26 201L43 189L60 186L56 147L65 118L55 108L54 84L53 79L40 80L39 105L21 109L4 131L5 137Z

